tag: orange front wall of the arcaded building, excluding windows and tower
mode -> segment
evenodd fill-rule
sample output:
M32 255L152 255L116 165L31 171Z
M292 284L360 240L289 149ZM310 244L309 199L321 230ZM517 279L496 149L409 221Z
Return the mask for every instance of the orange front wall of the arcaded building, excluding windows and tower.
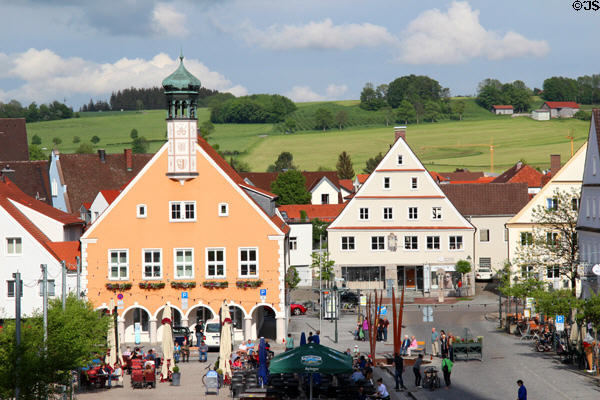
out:
M269 240L269 235L278 232L269 225L231 183L219 173L208 160L197 152L199 176L187 181L183 186L165 176L167 152L163 151L154 164L135 183L126 195L104 218L96 222L89 238L97 238L97 243L87 245L88 298L98 307L108 304L116 294L108 291L106 283L131 282L132 288L124 291L124 307L135 301L145 306L151 313L167 301L181 307L182 291L189 292L189 308L200 300L218 312L223 299L233 300L241 305L246 313L260 302L259 289L238 289L238 247L258 247L259 278L261 288L267 289L266 303L279 309L279 244ZM196 201L196 222L169 222L169 201ZM229 203L229 216L218 216L218 204ZM136 217L136 206L146 204L147 218ZM174 248L194 248L194 278L181 279L195 281L194 289L173 289ZM226 289L206 289L202 287L205 277L205 249L207 247L226 248L226 275L229 287ZM164 289L140 289L142 279L142 249L162 248ZM108 279L109 249L129 249L129 280L111 281ZM150 280L151 281L151 280ZM152 282L152 281L151 281ZM122 310L120 310L120 313ZM187 312L187 310L184 310Z

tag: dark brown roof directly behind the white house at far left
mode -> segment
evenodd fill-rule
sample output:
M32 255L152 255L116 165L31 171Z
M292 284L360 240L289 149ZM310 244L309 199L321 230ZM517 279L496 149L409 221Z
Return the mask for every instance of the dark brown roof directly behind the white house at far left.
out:
M1 128L0 128L1 129ZM15 171L8 178L27 195L52 204L48 161L3 161L0 170L10 168Z

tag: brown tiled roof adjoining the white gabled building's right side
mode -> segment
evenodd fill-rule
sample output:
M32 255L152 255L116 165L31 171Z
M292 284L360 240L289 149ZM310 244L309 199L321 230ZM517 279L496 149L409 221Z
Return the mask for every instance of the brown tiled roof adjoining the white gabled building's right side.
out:
M465 216L515 215L529 201L525 183L441 185L448 199Z

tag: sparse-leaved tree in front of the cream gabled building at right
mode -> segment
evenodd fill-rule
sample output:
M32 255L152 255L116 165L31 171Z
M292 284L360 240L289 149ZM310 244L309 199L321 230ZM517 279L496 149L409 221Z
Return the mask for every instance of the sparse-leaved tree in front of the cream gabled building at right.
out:
M522 275L538 277L555 271L570 282L575 295L579 278L579 246L577 243L578 207L580 192L555 190L547 204L532 211L533 231L531 236L521 238L515 263L521 266Z

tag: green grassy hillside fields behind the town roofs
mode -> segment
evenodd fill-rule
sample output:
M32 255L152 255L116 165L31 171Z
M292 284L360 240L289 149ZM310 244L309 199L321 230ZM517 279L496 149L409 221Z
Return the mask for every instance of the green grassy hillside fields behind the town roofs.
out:
M453 99L457 101L459 98ZM589 122L580 120L533 121L526 117L495 116L479 107L473 99L462 98L466 103L463 121L441 121L434 124L412 124L408 127L408 142L425 163L438 171L467 167L472 170L490 170L489 143L495 146L495 172L502 171L519 159L547 168L549 155L561 154L563 160L570 156L570 143L565 138L574 134L577 149L587 138ZM385 152L392 142L392 126L385 127L383 114L358 108L357 100L336 102L299 103L297 118L305 118L310 128L311 115L320 107L331 110L348 110L349 121L356 125L343 131L301 131L283 134L272 124L219 124L210 138L225 155L239 155L253 171L264 171L282 151L290 151L294 162L302 169L319 167L334 169L341 151L350 153L359 173L365 161L378 152ZM208 109L199 109L199 121L209 118ZM92 136L101 138L95 148L108 152L121 152L131 146L129 132L136 128L139 135L150 141L150 151L156 151L165 141L165 112L103 112L81 113L81 118L38 122L27 125L29 138L34 134L42 138L42 146L52 148L52 138L59 137L58 146L64 153L74 152L79 146L73 137L89 142ZM369 119L372 118L372 123ZM476 146L471 146L471 145ZM469 146L467 146L469 145ZM47 150L48 151L48 150Z

